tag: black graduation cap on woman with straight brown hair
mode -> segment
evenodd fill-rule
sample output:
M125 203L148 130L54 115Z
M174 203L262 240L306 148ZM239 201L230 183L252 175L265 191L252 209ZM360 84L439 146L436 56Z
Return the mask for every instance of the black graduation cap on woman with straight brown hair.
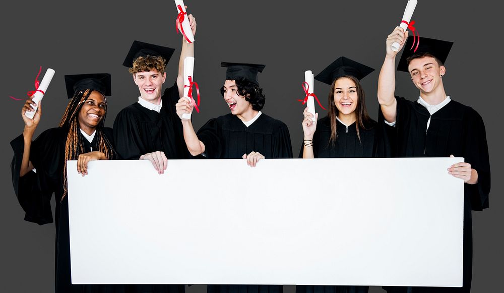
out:
M347 57L341 56L336 59L331 65L326 67L321 73L319 73L315 79L327 83L328 85L333 84L333 81L339 77L349 75L353 76L358 80L361 80L366 75L373 72L374 69L355 62Z

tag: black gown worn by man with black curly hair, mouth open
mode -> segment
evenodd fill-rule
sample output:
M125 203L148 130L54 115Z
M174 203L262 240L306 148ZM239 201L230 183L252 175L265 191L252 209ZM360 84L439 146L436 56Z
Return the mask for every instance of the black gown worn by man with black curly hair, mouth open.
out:
M265 158L292 158L287 126L270 116L261 116L246 127L233 114L209 120L199 131L209 159L241 159L243 154L259 152ZM282 285L208 285L207 293L282 293Z

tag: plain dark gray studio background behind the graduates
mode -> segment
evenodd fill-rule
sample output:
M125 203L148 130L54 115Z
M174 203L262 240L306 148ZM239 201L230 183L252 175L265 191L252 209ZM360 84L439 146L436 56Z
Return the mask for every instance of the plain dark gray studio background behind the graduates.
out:
M454 41L443 77L447 94L476 109L485 122L492 168L490 208L473 212L473 292L497 292L502 278L502 142L501 32L494 1L420 0L413 20L420 36ZM304 71L319 73L345 55L376 71L362 80L372 118L377 116L377 77L385 56L385 39L399 25L406 0L394 1L189 1L198 23L195 81L200 86L201 112L193 114L195 128L229 112L219 93L224 83L222 61L262 63L259 81L266 94L263 112L287 124L293 152L302 140L301 83ZM269 6L267 6L269 5ZM175 32L173 1L81 1L4 3L2 27L2 102L4 126L0 196L1 292L50 292L54 279L54 225L23 220L10 174L9 142L23 131L20 110L33 90L39 66L56 71L43 100L36 135L56 127L68 103L65 74L112 74L106 126L117 112L135 102L138 87L121 64L133 40L176 48L167 68L165 88L177 75L181 35ZM397 74L396 94L416 99L418 90L406 73ZM316 82L316 93L327 105L329 86ZM322 118L326 112L319 109ZM483 131L483 130L482 130ZM238 184L250 185L246 179ZM393 184L385 183L384 184ZM261 188L260 183L253 185ZM421 188L417 186L415 188ZM89 192L93 192L92 189ZM433 203L435 204L435 203ZM499 269L500 268L500 269ZM407 268L405 268L407 269ZM500 273L499 273L500 272ZM205 291L205 285L187 289ZM294 286L287 286L293 292ZM371 292L382 292L374 287Z

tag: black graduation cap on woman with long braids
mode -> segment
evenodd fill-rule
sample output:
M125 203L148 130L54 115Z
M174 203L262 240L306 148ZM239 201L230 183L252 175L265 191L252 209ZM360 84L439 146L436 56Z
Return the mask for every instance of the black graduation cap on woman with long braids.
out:
M77 91L95 90L104 96L112 95L111 76L108 73L74 74L65 76L67 95L71 99Z

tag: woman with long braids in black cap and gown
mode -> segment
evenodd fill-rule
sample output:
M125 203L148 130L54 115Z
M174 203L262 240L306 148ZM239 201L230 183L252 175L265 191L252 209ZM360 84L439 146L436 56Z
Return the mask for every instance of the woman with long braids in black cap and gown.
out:
M65 76L65 83L71 100L59 127L44 131L32 142L42 114L41 103L33 119L27 118L25 112L33 111L34 101L28 99L21 110L25 128L11 142L14 190L26 212L25 220L39 225L52 223L50 200L55 195L56 292L122 292L120 285L71 282L67 160L77 160L78 172L84 176L89 161L117 159L117 153L112 144L112 129L103 127L110 74L69 75Z

